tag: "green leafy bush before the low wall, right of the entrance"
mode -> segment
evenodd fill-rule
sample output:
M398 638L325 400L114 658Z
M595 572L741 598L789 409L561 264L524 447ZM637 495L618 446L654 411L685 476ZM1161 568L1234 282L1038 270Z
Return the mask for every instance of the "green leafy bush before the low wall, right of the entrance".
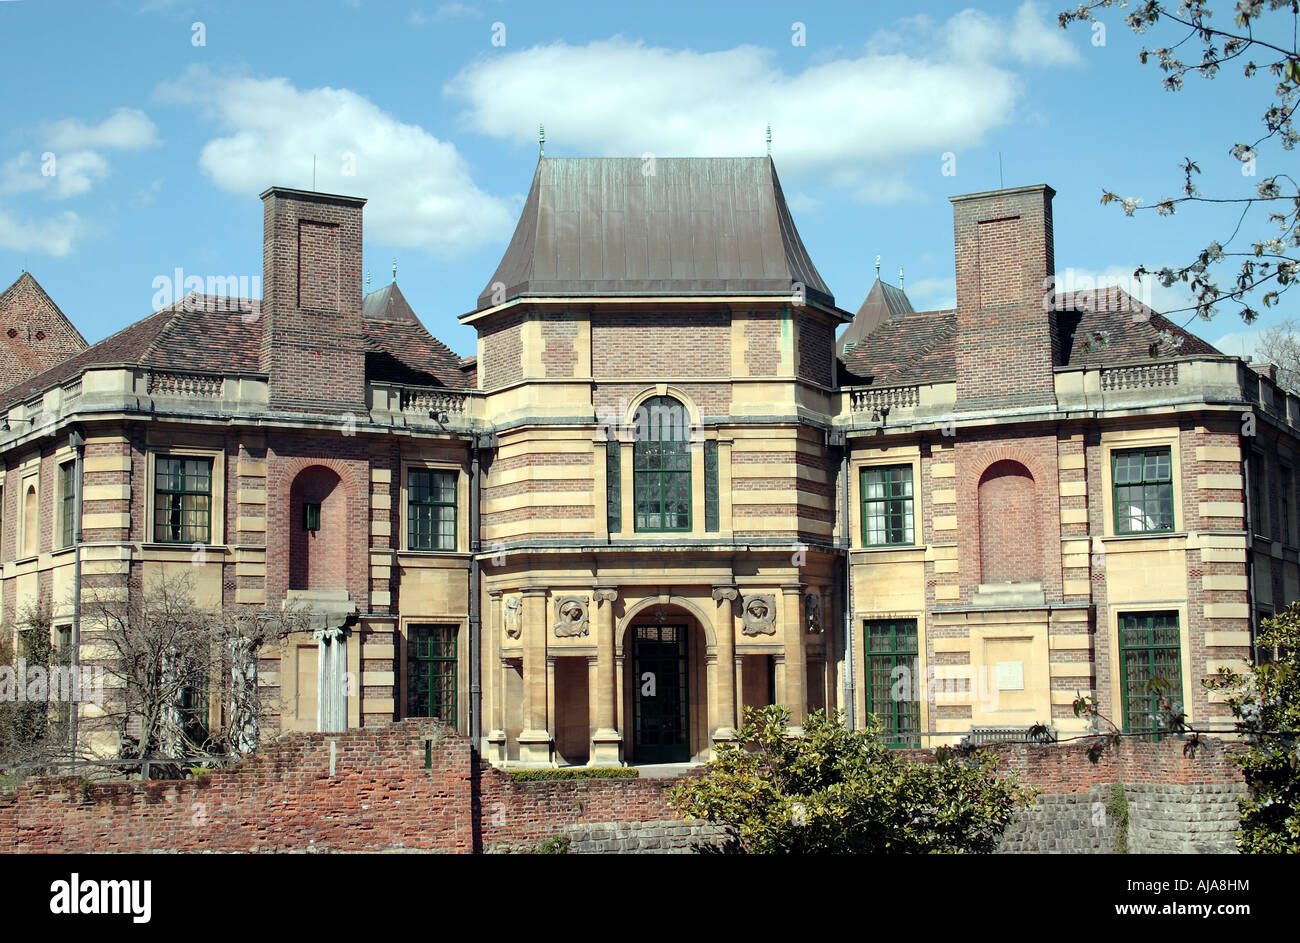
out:
M746 709L705 775L671 790L677 814L723 825L750 853L991 852L1032 799L987 753L905 761L875 718L864 731L822 711L802 736L788 726L785 708Z

